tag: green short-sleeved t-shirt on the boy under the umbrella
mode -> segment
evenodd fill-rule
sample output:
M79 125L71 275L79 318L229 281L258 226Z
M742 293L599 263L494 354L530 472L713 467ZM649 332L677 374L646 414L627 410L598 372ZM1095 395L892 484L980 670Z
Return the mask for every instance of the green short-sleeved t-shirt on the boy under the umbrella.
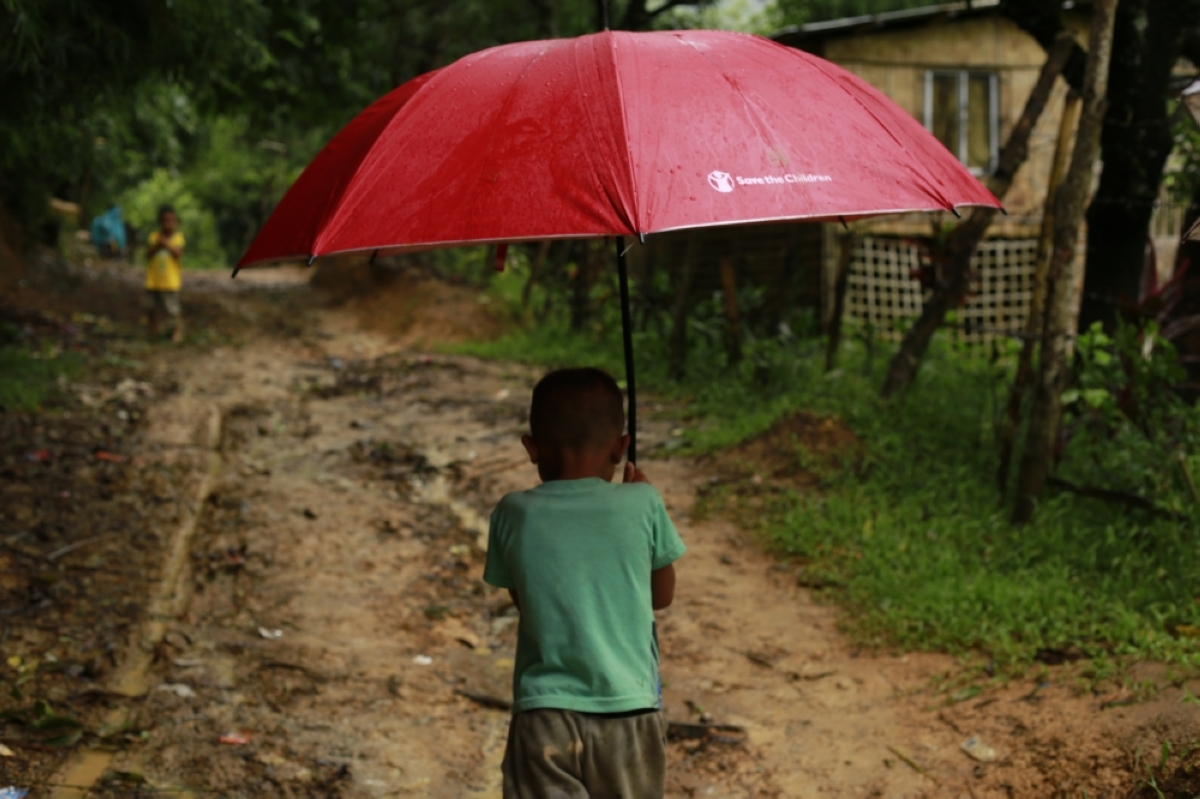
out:
M659 707L650 572L684 549L647 483L554 480L502 499L484 579L521 600L512 710Z

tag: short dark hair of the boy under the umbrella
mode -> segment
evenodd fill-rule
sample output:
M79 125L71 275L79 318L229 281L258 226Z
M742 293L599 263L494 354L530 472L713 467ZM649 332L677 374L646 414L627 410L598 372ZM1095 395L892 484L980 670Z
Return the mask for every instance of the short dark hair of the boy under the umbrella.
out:
M624 429L624 397L602 370L557 370L534 386L529 432L541 445L564 450L605 446Z

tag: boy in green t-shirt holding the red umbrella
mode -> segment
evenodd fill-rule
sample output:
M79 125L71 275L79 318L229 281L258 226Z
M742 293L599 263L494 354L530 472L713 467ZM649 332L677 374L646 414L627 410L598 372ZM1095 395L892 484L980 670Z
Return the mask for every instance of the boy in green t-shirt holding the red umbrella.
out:
M625 457L620 389L559 370L521 438L542 483L492 513L484 579L521 612L505 799L653 799L666 780L654 611L683 553L662 498Z

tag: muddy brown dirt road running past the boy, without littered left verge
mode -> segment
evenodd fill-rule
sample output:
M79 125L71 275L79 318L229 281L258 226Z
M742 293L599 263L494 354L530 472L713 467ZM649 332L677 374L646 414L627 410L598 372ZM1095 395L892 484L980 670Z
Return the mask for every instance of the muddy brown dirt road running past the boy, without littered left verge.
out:
M220 302L253 325L252 292ZM170 795L499 795L493 699L510 696L517 615L480 577L491 506L536 480L517 439L538 373L304 313L299 335L156 356L174 391L148 408L137 457L191 470L193 500L162 536L179 569L109 680L144 734L89 795L131 794L122 775ZM677 422L653 401L648 415L653 449ZM794 570L692 518L712 467L643 468L689 545L660 614L668 717L745 729L672 743L673 798L1115 799L1135 750L1194 735L1178 689L1114 705L1069 668L941 693L960 663L856 650ZM970 757L972 737L994 751ZM91 779L64 777L78 765L60 781Z

